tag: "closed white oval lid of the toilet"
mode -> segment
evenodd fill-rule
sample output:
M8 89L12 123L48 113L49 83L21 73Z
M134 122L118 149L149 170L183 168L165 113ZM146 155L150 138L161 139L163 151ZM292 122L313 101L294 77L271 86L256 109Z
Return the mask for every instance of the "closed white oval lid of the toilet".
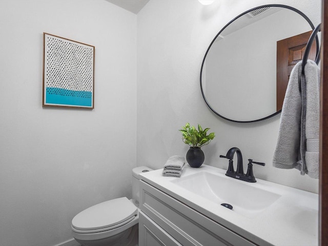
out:
M78 230L108 228L137 214L137 207L128 198L120 197L101 202L80 212L73 218L72 226Z

